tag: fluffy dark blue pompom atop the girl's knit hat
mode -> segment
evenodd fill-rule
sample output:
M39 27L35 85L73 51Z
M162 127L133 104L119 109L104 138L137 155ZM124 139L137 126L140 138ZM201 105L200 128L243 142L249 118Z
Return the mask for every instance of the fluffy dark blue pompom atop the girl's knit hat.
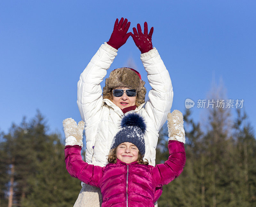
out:
M143 134L146 131L146 123L145 119L140 116L138 113L129 113L128 115L124 116L121 121L121 127L126 126L137 126L141 128Z

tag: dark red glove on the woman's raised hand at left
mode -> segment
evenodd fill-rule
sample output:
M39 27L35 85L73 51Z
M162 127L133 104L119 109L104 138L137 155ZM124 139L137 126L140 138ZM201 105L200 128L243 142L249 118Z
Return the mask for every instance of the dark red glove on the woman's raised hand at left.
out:
M132 34L131 32L127 33L131 22L127 23L127 19L123 17L120 19L118 23L118 19L116 19L114 30L108 40L108 44L118 50L128 39L128 37ZM127 33L127 34L126 34Z

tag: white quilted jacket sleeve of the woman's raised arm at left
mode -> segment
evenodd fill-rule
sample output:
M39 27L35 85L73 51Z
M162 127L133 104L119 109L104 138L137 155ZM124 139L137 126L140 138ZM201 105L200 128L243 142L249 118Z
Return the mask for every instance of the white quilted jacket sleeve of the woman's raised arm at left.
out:
M80 75L77 83L77 105L86 126L95 113L102 108L102 90L100 82L117 55L117 50L106 42L92 57L90 63Z

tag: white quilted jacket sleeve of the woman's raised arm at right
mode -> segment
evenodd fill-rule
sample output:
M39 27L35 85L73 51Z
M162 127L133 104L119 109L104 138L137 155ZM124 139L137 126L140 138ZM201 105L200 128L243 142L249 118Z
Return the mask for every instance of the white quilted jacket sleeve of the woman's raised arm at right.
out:
M141 54L140 59L148 73L148 82L152 87L148 93L149 101L145 110L158 132L167 120L167 114L172 107L172 81L156 48Z

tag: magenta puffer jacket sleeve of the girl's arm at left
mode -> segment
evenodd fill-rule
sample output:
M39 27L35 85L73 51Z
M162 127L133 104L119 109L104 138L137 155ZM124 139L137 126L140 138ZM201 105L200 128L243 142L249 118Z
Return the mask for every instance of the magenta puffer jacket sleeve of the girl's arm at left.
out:
M65 163L68 173L85 184L100 188L99 183L103 175L103 168L89 165L81 157L81 147L78 145L65 147Z

